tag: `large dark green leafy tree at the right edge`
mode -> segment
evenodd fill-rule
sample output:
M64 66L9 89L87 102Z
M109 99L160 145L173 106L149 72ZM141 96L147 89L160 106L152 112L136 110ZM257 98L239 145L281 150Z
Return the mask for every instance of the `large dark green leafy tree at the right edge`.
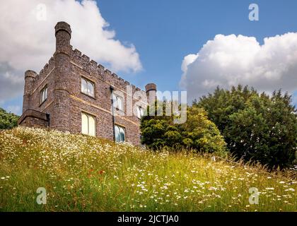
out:
M268 167L289 167L297 150L297 114L291 96L274 91L271 97L238 85L194 101L218 126L228 150L244 160Z

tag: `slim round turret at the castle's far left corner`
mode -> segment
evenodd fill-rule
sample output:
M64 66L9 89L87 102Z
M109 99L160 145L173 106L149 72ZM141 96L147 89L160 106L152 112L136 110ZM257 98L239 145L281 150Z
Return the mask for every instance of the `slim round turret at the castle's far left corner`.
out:
M32 107L30 103L30 97L33 93L33 85L34 85L36 76L37 76L37 73L35 71L30 71L30 70L25 71L23 112L25 112L26 109L30 109Z

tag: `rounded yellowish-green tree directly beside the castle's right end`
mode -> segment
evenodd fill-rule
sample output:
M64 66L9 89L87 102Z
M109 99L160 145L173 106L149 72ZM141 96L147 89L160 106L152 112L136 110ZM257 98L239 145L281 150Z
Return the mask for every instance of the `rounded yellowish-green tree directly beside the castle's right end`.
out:
M163 102L163 112L165 105ZM184 124L174 124L174 117L173 114L165 116L165 113L142 117L141 143L153 150L165 146L174 150L189 148L204 153L226 155L226 143L216 125L207 119L204 109L187 107L187 121Z

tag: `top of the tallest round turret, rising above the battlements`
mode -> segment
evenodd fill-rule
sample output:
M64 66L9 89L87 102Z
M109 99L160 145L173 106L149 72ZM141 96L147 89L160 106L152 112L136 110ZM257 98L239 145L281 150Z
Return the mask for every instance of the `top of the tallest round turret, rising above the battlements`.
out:
M56 35L56 51L70 49L71 28L66 22L58 22L54 27Z

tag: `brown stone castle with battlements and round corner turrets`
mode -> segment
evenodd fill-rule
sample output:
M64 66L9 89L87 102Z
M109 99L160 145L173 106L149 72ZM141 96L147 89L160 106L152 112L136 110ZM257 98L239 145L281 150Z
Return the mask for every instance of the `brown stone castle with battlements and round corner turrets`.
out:
M140 118L156 85L146 91L82 55L70 44L71 28L54 27L56 51L39 74L25 71L21 126L51 128L71 133L140 144Z

